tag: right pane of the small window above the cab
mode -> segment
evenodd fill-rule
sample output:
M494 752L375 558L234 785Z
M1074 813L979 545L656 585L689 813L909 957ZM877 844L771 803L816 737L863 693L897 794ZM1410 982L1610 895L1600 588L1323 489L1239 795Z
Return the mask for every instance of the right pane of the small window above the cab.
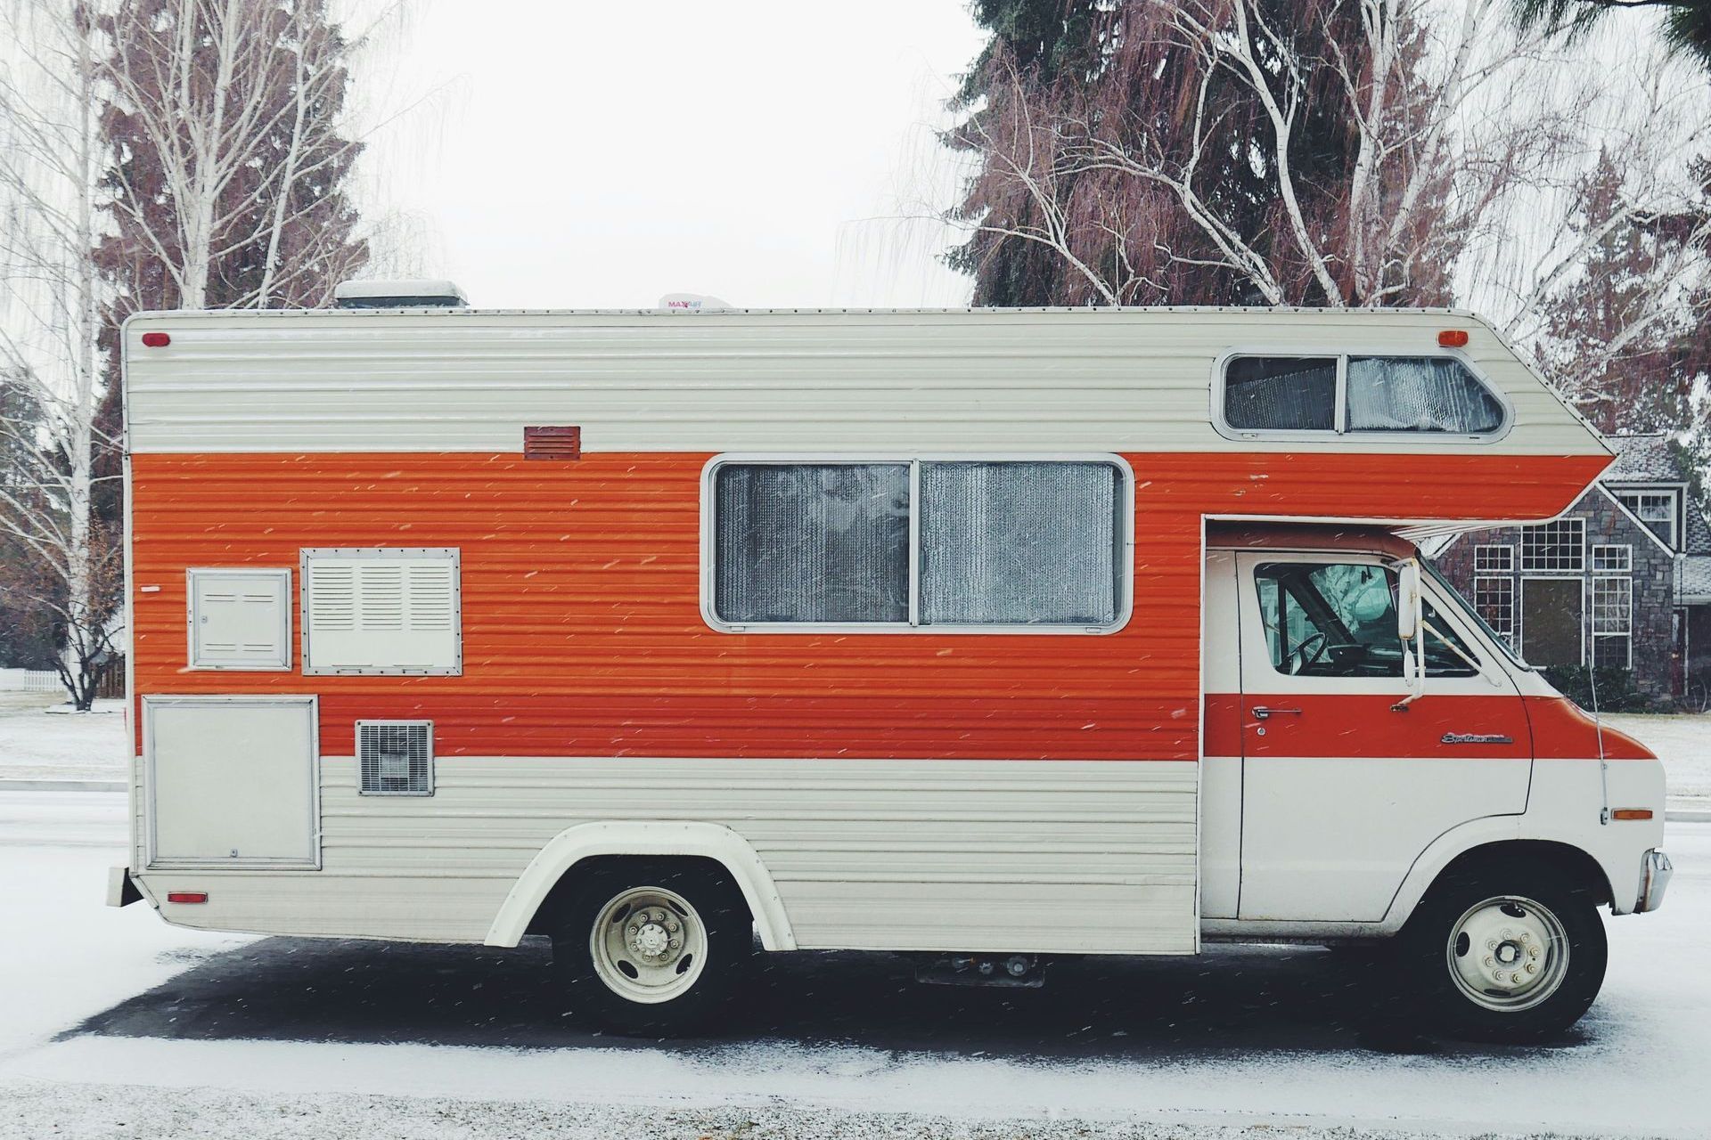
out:
M1454 357L1348 357L1348 431L1478 436L1501 426L1497 397Z

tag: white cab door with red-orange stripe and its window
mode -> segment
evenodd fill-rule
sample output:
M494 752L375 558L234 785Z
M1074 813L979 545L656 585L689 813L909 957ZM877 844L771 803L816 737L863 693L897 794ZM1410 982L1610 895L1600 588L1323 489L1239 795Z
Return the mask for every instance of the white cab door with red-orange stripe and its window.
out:
M1249 552L1237 585L1240 918L1379 921L1437 836L1526 810L1519 692L1453 603L1429 602L1427 622L1475 665L1427 634L1425 696L1398 708L1396 574L1381 559Z

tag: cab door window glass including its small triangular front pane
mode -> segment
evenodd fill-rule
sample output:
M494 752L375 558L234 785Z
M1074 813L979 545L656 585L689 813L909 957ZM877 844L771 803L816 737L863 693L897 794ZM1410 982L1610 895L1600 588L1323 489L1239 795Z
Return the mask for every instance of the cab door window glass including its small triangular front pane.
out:
M1259 619L1271 667L1290 677L1401 677L1403 644L1396 638L1396 576L1371 562L1268 562L1254 571ZM1473 655L1437 617L1470 660ZM1442 639L1425 638L1427 677L1471 677L1468 663Z

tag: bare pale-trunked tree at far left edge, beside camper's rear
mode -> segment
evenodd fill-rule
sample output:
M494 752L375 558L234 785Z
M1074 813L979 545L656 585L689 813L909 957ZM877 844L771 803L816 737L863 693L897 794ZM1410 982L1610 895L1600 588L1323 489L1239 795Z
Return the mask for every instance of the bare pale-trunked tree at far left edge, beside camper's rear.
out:
M92 513L103 393L101 32L84 5L9 9L0 70L0 383L33 415L0 419L0 533L27 555L9 602L55 615L62 680L87 709L113 660L118 542Z

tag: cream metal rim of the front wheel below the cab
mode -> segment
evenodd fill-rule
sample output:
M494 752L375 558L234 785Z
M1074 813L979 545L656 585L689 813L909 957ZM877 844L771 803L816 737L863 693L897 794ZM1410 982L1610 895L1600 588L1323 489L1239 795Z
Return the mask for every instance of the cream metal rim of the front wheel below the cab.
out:
M1533 899L1499 896L1475 902L1449 928L1449 976L1475 1005L1514 1014L1562 988L1569 931Z

